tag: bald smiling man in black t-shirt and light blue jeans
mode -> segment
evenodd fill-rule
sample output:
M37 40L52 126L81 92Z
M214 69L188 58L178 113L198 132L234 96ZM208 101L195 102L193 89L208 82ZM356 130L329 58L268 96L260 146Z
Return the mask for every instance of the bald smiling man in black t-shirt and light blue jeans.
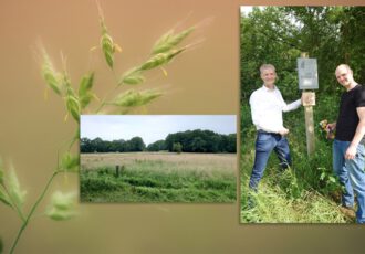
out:
M342 205L354 207L356 222L365 223L365 87L357 84L346 64L337 66L338 83L346 89L341 96L337 121L327 128L336 129L333 142L333 170L344 186Z

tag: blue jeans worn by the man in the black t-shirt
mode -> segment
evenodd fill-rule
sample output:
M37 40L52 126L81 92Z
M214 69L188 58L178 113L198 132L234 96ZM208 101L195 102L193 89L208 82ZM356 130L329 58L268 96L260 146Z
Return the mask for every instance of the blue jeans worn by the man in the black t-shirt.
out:
M358 145L356 157L353 160L345 159L345 152L350 141L335 139L333 142L333 171L338 176L344 187L342 204L354 207L354 193L357 199L357 223L365 223L365 146Z

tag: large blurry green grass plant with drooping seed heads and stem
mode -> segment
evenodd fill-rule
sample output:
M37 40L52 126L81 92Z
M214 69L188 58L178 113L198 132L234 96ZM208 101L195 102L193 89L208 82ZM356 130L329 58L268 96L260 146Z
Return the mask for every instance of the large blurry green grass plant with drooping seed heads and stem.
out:
M52 57L46 52L45 47L41 44L36 53L36 57L41 63L41 75L45 81L45 98L49 91L53 93L64 102L65 116L64 121L70 118L77 125L80 123L80 116L85 112L92 100L98 103L96 109L88 109L87 112L94 114L105 113L106 108L108 113L114 114L127 114L128 112L146 106L156 98L160 97L164 93L160 89L139 89L135 87L146 82L146 73L154 68L160 68L161 74L166 75L165 67L173 62L181 53L186 52L196 43L190 45L181 45L181 42L194 31L197 25L190 27L180 32L176 32L174 29L165 33L153 45L150 55L146 57L146 61L137 64L131 70L121 72L115 70L116 53L121 53L121 46L114 41L109 30L106 27L104 14L98 7L101 40L100 46L91 49L90 54L94 54L95 51L100 51L105 59L105 63L111 68L112 75L115 78L115 87L103 99L98 99L98 96L93 91L95 81L95 71L88 71L85 73L75 87L74 82L67 72L66 60L62 56L62 70L58 70L52 61ZM70 121L70 120L69 120ZM32 218L39 204L44 200L53 180L60 173L77 173L79 172L79 152L76 152L77 144L80 140L79 128L74 136L66 144L66 148L63 148L58 154L56 166L51 170L51 177L44 186L44 189L36 198L35 202L31 205L30 211L23 210L25 202L25 190L21 188L18 180L15 170L13 167L0 163L0 202L12 209L21 221L21 226L18 234L10 247L10 253L15 251L15 247L22 236L22 233L29 226ZM75 211L76 193L63 193L55 191L50 200L46 211L43 212L46 216L55 221L67 220L76 214ZM0 239L0 252L3 250L3 242Z

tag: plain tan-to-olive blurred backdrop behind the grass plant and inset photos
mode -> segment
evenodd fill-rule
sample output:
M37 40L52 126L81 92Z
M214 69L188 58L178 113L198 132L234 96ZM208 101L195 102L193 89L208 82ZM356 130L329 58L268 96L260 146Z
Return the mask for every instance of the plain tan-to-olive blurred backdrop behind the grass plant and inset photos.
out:
M66 3L67 2L67 3ZM275 4L361 4L363 1L275 1ZM191 39L205 39L146 86L168 94L148 114L238 114L239 6L272 4L243 0L105 0L106 23L124 52L116 70L140 63L169 28L212 18ZM363 2L364 3L364 2ZM94 0L1 0L0 2L0 155L13 161L28 190L29 210L56 162L58 148L76 126L64 123L63 103L43 99L44 83L33 50L39 40L61 66L67 56L74 83L87 71L88 49L98 43ZM97 54L96 54L97 55ZM95 57L96 89L113 88L104 60ZM59 177L52 189L79 189L77 177ZM46 197L45 200L49 200ZM46 202L45 202L46 203ZM44 211L43 203L38 214ZM80 204L67 222L36 216L18 253L362 253L365 227L356 225L240 225L239 204ZM20 221L0 204L0 236L6 251Z

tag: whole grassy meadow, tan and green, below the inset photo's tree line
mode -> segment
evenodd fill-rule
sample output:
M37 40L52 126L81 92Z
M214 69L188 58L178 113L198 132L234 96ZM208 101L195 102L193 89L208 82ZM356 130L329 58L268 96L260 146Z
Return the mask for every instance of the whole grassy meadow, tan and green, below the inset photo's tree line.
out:
M236 168L236 154L81 154L81 202L234 202Z

